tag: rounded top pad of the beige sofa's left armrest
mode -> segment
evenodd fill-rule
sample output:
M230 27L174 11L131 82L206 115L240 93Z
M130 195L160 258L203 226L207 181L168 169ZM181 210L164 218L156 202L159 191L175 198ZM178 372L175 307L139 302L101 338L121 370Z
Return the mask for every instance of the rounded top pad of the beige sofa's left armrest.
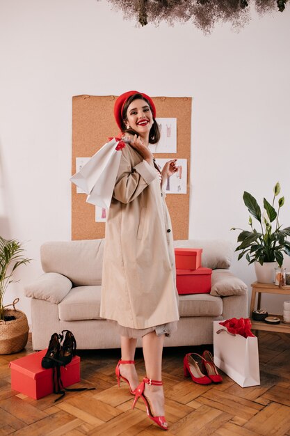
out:
M25 286L26 297L45 299L47 302L58 304L72 288L72 282L58 272L45 272L39 279Z

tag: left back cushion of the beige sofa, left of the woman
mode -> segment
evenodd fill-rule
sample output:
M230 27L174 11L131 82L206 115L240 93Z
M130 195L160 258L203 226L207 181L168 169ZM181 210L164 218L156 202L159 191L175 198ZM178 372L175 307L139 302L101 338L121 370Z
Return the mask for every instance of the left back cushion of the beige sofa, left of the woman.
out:
M45 242L40 247L42 269L63 274L74 286L102 283L103 254L104 239Z

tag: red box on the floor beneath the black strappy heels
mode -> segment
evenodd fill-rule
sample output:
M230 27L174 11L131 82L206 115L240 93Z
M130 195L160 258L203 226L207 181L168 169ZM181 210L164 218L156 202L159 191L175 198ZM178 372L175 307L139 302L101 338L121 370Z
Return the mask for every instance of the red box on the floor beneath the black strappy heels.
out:
M41 366L42 357L46 350L34 352L31 355L10 361L11 389L19 391L35 400L54 391L52 374L53 370ZM74 356L70 364L61 366L61 380L63 387L77 383L81 380L79 356Z

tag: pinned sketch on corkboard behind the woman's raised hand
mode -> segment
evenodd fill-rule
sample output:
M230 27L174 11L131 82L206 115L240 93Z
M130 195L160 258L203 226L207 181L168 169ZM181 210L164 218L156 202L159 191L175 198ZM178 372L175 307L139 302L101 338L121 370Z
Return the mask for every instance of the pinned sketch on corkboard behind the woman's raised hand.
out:
M156 164L160 169L163 169L164 164L170 159L155 159ZM171 177L168 177L164 189L166 194L186 194L187 185L187 159L177 159L177 172Z

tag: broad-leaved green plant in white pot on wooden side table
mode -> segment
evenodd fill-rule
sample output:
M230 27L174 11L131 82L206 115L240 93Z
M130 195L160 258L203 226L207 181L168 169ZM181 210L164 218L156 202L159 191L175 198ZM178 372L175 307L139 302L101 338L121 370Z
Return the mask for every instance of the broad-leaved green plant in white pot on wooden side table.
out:
M281 228L279 223L280 208L284 205L284 196L278 200L278 208L275 210L275 200L280 194L280 183L277 182L274 187L274 196L272 204L264 198L264 213L262 215L261 208L257 200L249 193L243 193L243 202L250 212L249 225L250 231L241 228L232 228L231 230L241 230L237 242L240 242L236 247L236 251L241 251L238 260L244 255L248 263L255 262L255 271L257 280L263 282L271 282L274 277L274 267L283 264L283 253L290 256L290 242L287 237L290 236L290 227ZM252 217L259 223L259 229L253 227ZM268 264L271 264L269 266ZM270 272L266 277L259 276L260 267L269 267ZM271 275L270 275L271 274Z

